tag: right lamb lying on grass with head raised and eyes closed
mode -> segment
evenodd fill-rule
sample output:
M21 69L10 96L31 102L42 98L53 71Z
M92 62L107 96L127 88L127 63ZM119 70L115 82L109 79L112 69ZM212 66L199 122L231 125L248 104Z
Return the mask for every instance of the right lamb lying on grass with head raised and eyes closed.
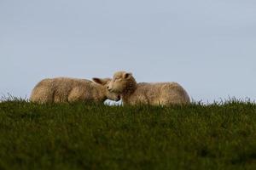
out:
M189 95L177 82L137 83L131 73L118 71L108 85L120 94L124 105L185 105Z

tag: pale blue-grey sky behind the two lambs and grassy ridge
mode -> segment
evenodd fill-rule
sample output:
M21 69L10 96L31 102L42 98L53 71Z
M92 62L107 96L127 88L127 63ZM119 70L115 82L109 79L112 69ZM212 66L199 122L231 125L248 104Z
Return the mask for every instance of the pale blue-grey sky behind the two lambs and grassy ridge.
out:
M255 0L0 0L0 96L130 71L195 101L255 100L255 63Z

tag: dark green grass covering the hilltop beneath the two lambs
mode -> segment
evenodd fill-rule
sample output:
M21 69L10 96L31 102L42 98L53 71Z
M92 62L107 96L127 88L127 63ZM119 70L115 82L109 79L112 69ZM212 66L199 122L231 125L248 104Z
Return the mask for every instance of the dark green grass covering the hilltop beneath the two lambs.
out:
M0 169L256 169L256 105L3 101Z

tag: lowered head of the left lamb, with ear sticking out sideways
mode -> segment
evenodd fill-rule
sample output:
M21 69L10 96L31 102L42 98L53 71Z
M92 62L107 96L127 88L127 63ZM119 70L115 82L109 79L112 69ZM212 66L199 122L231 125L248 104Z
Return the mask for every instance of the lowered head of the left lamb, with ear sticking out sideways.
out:
M119 101L121 99L119 94L108 90L111 78L92 78L92 80L102 86L102 89L108 99L112 99L114 101Z

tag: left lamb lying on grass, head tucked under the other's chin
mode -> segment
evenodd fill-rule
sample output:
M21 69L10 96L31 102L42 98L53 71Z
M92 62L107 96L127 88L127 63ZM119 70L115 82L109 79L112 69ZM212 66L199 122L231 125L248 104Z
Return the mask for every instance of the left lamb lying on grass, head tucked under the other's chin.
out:
M120 99L119 94L108 91L110 78L93 78L93 81L68 77L47 78L33 88L30 101L44 104Z

